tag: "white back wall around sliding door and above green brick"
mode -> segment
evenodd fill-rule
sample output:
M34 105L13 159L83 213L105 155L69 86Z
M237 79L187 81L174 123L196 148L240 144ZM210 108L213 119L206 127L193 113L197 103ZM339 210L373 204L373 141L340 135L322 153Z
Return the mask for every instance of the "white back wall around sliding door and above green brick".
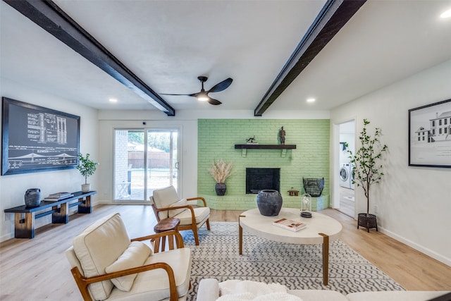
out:
M115 128L165 128L179 127L182 131L183 158L180 162L182 176L180 197L197 195L197 119L199 118L260 118L260 119L328 119L328 111L268 112L262 117L254 117L254 111L223 111L218 109L204 111L176 111L175 116L168 117L160 111L99 111L101 166L101 191L99 201L113 202L113 131ZM201 154L202 155L202 154ZM106 180L104 180L106 179Z

